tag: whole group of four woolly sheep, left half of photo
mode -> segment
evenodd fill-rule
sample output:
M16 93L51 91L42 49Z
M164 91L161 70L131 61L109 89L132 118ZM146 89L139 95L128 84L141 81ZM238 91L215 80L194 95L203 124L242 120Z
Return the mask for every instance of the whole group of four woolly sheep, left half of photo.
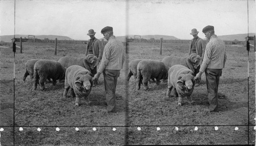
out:
M94 76L91 70L99 63L99 60L93 54L86 57L64 56L58 61L32 59L26 62L26 72L23 81L27 76L33 79L33 89L36 90L37 84L41 90L45 90L46 80L51 81L53 85L57 80L65 79L65 90L63 97L67 97L70 90L71 95L76 97L75 104L79 106L81 97L87 98L92 90ZM89 101L89 98L88 98Z

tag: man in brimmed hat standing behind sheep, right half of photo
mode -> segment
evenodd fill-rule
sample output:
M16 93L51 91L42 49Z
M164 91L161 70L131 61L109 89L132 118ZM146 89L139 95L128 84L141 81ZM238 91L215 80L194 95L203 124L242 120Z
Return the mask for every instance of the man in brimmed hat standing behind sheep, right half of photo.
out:
M198 54L202 59L204 57L204 50L205 50L205 45L204 45L204 41L203 39L198 37L198 31L196 28L193 28L191 30L190 35L193 36L193 39L190 42L190 46L189 46L189 55L191 53L196 53ZM195 73L199 73L199 69L200 69L200 65L198 66L198 68L195 70ZM199 82L201 82L201 78L199 79ZM199 85L200 83L197 82L196 85Z

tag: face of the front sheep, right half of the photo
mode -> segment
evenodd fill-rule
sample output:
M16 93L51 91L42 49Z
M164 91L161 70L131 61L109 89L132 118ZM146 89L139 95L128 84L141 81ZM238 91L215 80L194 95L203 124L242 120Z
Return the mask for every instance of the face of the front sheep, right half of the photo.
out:
M195 77L191 74L181 75L177 80L177 85L185 94L190 93L191 91L194 90L194 86L195 86L194 78Z

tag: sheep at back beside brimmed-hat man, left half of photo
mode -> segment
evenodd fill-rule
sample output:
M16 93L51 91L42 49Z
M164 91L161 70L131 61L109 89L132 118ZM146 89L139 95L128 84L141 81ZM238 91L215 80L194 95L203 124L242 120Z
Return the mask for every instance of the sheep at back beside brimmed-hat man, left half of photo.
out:
M90 72L99 64L98 58L93 54L88 54L86 57L64 56L58 62L66 68L72 65L78 65L86 68Z

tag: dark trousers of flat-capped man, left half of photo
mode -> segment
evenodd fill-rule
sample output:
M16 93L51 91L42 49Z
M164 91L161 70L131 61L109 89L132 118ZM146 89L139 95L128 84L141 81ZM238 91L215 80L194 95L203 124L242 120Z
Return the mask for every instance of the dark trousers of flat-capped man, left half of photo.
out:
M104 69L103 71L104 86L106 92L106 104L108 105L106 110L108 110L109 112L116 112L116 85L119 75L120 70Z

